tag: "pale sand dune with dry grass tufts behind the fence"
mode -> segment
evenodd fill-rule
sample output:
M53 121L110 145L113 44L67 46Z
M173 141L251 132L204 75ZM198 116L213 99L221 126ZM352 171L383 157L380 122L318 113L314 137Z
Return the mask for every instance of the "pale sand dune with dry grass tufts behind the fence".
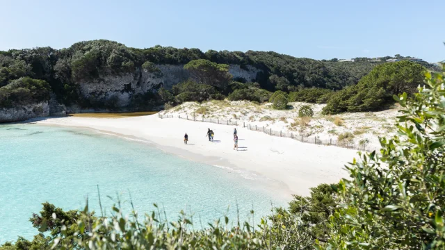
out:
M314 117L305 126L300 124L298 117L298 110L303 105L308 105L314 110ZM368 140L366 149L369 151L380 149L379 137L394 135L395 117L401 115L396 107L379 112L322 115L321 110L325 105L294 102L289 103L288 110L274 110L271 108L271 103L257 105L250 101L213 100L203 103L183 103L163 111L162 114L175 117L196 115L197 119L204 116L207 119L236 120L238 124L245 123L283 133L292 132L294 135L302 135L312 140L317 137L325 142L336 141L339 135L349 132L354 136L352 144L355 144L355 147L353 148L357 149L361 140ZM335 124L335 119L339 119L341 124Z

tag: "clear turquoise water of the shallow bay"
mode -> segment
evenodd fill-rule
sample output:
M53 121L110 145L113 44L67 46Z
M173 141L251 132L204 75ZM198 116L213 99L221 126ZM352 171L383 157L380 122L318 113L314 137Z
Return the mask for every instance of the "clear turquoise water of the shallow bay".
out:
M252 177L252 176L250 176ZM120 196L129 213L129 195L138 213L163 208L169 220L181 210L202 224L227 214L242 220L270 213L270 203L286 204L261 187L260 177L195 163L152 145L112 135L37 124L0 125L0 243L21 235L31 239L37 230L29 217L49 201L63 209L86 204L99 211L113 205L107 196ZM227 208L229 208L227 212Z

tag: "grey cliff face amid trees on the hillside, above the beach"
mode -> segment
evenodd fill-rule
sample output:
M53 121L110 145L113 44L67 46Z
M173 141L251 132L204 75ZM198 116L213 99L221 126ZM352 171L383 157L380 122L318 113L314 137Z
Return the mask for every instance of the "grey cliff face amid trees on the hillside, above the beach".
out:
M92 81L77 83L81 94L88 99L115 99L116 105L129 105L136 94L144 94L149 90L163 86L171 89L173 85L190 77L184 65L156 65L160 72L148 72L146 69L136 69L134 73L104 74ZM242 69L240 65L230 65L229 72L234 78L254 81L260 69L247 65Z

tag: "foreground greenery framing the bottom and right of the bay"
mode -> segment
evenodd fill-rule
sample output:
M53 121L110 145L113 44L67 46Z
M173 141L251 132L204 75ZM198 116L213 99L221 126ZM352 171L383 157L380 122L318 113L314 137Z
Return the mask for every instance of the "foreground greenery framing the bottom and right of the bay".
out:
M393 95L398 134L380 138L379 152L359 153L349 178L296 195L260 222L222 217L194 229L190 215L167 222L156 205L144 216L118 205L104 216L88 203L83 211L44 203L30 219L38 235L0 249L444 249L445 73L406 90Z

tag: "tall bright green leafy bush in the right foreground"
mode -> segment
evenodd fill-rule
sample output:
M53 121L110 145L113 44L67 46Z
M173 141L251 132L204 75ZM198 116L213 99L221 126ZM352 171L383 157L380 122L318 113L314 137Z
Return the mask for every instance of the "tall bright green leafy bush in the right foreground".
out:
M398 135L361 154L339 183L327 249L444 249L445 74L426 74L403 107Z

